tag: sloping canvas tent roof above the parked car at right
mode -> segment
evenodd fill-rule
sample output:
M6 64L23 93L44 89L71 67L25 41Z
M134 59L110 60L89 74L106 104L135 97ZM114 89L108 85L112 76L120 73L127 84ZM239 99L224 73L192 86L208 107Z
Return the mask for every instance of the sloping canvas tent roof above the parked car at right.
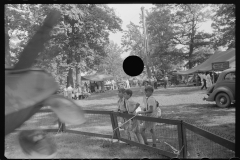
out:
M212 63L215 62L229 62L229 67L233 68L235 67L235 48L229 49L227 51L217 51L215 52L211 57L209 57L206 61L204 61L202 64L189 69L187 71L180 71L176 72L175 74L180 74L180 75L187 75L187 74L192 74L195 72L206 72L206 71L211 71L212 70Z

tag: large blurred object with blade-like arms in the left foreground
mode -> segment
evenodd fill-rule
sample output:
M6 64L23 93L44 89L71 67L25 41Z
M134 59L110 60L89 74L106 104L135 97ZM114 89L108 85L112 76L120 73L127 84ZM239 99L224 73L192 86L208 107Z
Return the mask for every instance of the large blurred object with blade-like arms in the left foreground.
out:
M60 17L60 12L50 12L20 54L18 63L12 69L5 69L5 136L14 132L43 106L51 106L63 123L85 122L80 106L72 100L53 95L58 90L58 84L49 73L41 69L31 69ZM18 140L29 158L50 158L56 152L53 138L41 130L21 131Z

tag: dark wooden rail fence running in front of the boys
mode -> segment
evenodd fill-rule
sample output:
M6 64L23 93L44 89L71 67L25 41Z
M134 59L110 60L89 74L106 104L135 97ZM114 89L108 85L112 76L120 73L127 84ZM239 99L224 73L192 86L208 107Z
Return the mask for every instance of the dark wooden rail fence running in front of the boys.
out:
M111 125L112 125L112 130L118 127L118 117L123 117L123 118L131 118L133 115L129 114L123 114L119 112L113 112L113 111L96 111L96 110L84 110L85 114L94 114L94 115L106 115L110 116L111 118ZM46 112L52 112L50 109L41 109L39 112L41 113L46 113ZM97 117L97 116L96 116ZM137 120L142 120L142 121L150 121L150 122L157 122L161 124L168 124L168 125L173 125L176 126L177 128L177 143L178 143L178 153L176 152L170 152L166 151L163 149L143 145L134 141L130 141L127 138L123 138L120 134L120 130L116 129L114 132L113 139L120 140L122 142L135 145L141 148L149 149L152 151L156 151L161 155L164 155L166 157L178 157L178 158L187 158L188 156L188 138L186 134L186 130L190 130L191 132L194 132L195 134L198 134L212 142L215 142L223 147L225 147L228 150L231 150L235 152L235 143L231 142L227 139L224 139L222 137L219 137L218 135L215 135L213 133L210 133L208 131L205 131L203 129L200 129L196 126L193 126L191 124L188 124L184 121L180 120L172 120L172 119L162 119L162 118L152 118L152 117L144 117L144 116L136 116L135 119ZM81 125L79 126L81 128ZM19 129L21 130L21 128ZM102 138L112 138L111 134L100 134L100 133L91 133L91 132L85 132L85 131L77 131L73 129L68 129L65 124L58 124L58 129L45 129L47 132L67 132L67 133L74 133L74 134L81 134L81 135L88 135L88 136L96 136L96 137L102 137ZM229 157L231 158L231 157Z

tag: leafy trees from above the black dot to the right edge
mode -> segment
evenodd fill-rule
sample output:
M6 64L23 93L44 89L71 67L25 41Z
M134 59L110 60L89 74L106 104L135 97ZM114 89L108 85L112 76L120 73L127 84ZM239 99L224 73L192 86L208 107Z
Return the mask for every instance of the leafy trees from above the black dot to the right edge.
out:
M168 71L180 65L190 69L213 54L216 46L234 47L234 11L231 4L155 4L146 14L153 68ZM207 21L213 22L214 33L200 29ZM144 59L143 44L142 28L131 22L122 45Z

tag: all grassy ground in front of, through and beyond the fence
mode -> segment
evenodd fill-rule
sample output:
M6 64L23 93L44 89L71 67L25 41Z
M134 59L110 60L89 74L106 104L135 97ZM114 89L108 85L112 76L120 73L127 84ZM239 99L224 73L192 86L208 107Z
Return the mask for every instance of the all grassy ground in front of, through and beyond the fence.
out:
M133 88L132 90L133 99L136 102L142 103L142 95L139 88ZM180 87L156 90L154 97L160 103L162 118L183 120L234 142L235 106L218 108L214 103L202 100L205 93L206 91L200 90L199 87ZM83 106L84 109L112 111L117 109L117 100L117 91L108 91L96 94L88 100L77 100L76 102ZM85 117L87 119L85 123L81 125L66 124L66 128L91 133L113 134L109 115L86 113ZM56 120L57 117L54 113L37 113L23 124L20 129L57 129L58 125ZM172 153L172 149L164 143L167 142L174 148L180 150L177 127L175 125L157 125L156 133L157 148ZM126 138L122 130L120 134ZM56 158L143 158L149 157L151 154L141 149L131 149L129 146L126 146L125 143L114 143L112 145L114 147L103 148L101 146L103 146L106 140L101 138L65 133L55 135L54 137L60 141L57 142L59 143L59 152ZM20 148L15 146L17 142L13 141L13 138L14 134L5 138L5 154L8 155L9 158L22 155ZM147 132L147 139L151 145L152 139L149 132ZM217 154L216 152L221 152L219 157L222 158L232 157L233 152L191 131L187 131L187 139L188 142L191 142L191 144L188 145L188 157L203 158L205 156L214 158L214 155ZM206 143L209 145L206 145ZM84 144L85 146L83 147ZM107 142L105 144L107 144ZM119 153L115 153L118 149ZM131 152L133 150L134 152ZM96 154L94 153L95 151ZM120 153L123 155L120 156ZM156 155L156 157L159 156L156 153L153 155ZM155 156L153 157L155 158Z

